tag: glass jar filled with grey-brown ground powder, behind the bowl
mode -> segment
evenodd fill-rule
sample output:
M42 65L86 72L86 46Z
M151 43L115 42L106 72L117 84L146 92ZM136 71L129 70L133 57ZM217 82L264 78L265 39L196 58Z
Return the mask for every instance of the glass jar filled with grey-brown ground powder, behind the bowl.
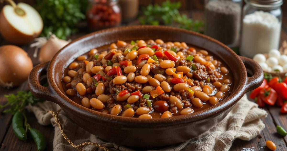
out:
M240 40L242 0L205 0L205 31L229 47Z

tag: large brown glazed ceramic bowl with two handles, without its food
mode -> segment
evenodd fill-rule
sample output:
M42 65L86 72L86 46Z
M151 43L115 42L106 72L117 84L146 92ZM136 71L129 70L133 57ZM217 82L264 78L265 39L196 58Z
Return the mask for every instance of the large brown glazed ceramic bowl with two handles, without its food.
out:
M116 42L118 39L162 39L184 41L211 51L230 67L233 88L221 103L199 112L171 118L139 119L104 114L85 108L70 100L63 91L64 69L78 56L92 48ZM252 77L247 77L247 70ZM45 72L46 71L46 72ZM40 76L46 74L48 87L41 86ZM38 98L55 102L80 127L90 133L126 146L153 147L184 142L218 124L247 92L263 82L261 67L251 59L237 56L229 47L208 36L167 26L126 26L91 33L61 49L50 62L36 66L29 76L29 87ZM68 134L69 135L69 134Z

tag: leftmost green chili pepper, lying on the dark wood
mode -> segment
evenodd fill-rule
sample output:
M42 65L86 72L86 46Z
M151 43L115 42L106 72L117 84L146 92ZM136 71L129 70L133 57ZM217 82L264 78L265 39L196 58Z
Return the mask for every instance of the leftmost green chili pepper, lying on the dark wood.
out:
M26 141L27 134L26 134L26 131L23 127L23 114L20 111L18 111L14 114L14 116L12 118L12 127L13 127L13 131L14 131L15 135L19 139Z

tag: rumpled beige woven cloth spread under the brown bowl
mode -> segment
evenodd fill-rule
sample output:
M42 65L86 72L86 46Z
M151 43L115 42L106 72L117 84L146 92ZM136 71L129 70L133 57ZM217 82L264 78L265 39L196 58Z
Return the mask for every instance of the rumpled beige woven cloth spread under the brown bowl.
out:
M57 111L60 107L52 102L46 101L38 103L36 106L29 106L28 110L34 112L38 123L41 125L52 124L55 127L55 136L53 141L54 151L76 151L75 148L61 135L55 118L51 113L47 113L48 110ZM203 133L202 135L188 140L186 142L164 147L157 148L162 151L228 151L232 145L234 139L250 140L257 136L264 128L265 125L260 118L267 116L265 110L259 109L257 104L247 100L247 96L243 98L234 106L231 112L214 128ZM95 135L90 134L78 125L76 125L71 119L67 118L65 113L61 111L59 118L67 136L74 144L81 144L84 142L94 142L107 147L111 151L133 151L133 149L121 146L118 144L110 143L102 140ZM132 138L131 138L132 139ZM148 147L148 146L147 146ZM95 146L84 146L86 151L94 151Z

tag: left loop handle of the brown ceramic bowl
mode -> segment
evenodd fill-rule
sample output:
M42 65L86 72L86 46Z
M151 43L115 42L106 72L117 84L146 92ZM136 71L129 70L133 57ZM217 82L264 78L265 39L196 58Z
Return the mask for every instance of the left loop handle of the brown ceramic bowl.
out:
M55 95L53 95L49 86L45 87L40 84L40 78L46 74L44 71L47 70L48 65L49 62L45 62L35 66L29 74L28 85L31 93L37 98L54 102L57 98L54 97Z

